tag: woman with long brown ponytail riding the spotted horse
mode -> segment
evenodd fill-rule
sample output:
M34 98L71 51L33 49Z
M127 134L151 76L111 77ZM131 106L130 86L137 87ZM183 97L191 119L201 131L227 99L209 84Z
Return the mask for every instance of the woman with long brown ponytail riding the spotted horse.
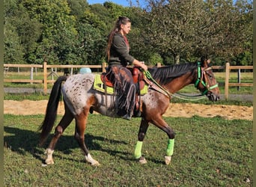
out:
M133 64L147 70L147 66L129 55L129 42L126 35L131 30L131 21L127 17L119 17L115 27L109 34L107 55L109 61L110 80L117 91L118 115L130 120L135 105L135 84L127 65Z

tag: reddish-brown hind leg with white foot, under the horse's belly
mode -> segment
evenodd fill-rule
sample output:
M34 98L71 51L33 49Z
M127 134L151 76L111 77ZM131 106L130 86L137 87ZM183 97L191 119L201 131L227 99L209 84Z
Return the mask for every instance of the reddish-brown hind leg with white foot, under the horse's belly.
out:
M97 165L100 165L100 163L91 157L91 154L89 153L85 145L85 128L86 128L86 121L88 118L88 112L89 112L89 109L84 108L84 111L81 114L76 116L75 138L76 138L76 141L79 143L79 146L81 147L83 153L85 153L85 160L91 163L91 165L97 166Z

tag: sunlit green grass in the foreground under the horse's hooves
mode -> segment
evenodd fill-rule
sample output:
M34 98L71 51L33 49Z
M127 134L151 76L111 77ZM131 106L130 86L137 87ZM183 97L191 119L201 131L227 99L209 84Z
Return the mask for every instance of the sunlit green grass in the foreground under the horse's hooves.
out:
M43 115L4 114L4 186L252 186L252 121L165 120L176 132L171 165L163 159L168 137L155 126L142 148L147 165L139 165L133 151L140 120L91 114L85 142L100 167L85 163L71 123L58 141L55 165L43 168L46 146L37 146Z

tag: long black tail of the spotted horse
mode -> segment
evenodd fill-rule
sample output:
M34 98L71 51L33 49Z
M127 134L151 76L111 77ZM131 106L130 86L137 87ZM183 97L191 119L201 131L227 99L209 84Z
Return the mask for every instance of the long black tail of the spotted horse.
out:
M44 141L46 141L46 138L48 137L49 132L51 132L55 123L57 117L58 102L61 97L61 83L66 80L67 76L60 76L52 87L49 101L47 103L46 115L44 117L43 123L39 128L39 130L42 130L40 133L40 145L43 145Z

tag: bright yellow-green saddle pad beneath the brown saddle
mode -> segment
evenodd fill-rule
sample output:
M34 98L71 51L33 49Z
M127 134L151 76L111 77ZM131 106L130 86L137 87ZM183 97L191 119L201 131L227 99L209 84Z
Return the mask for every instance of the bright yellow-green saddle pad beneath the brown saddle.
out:
M94 90L100 91L105 93L105 87L106 87L106 93L114 94L114 88L104 85L102 80L100 79L100 74L95 74L94 78ZM148 85L145 84L144 88L141 89L141 95L144 95L147 93Z

